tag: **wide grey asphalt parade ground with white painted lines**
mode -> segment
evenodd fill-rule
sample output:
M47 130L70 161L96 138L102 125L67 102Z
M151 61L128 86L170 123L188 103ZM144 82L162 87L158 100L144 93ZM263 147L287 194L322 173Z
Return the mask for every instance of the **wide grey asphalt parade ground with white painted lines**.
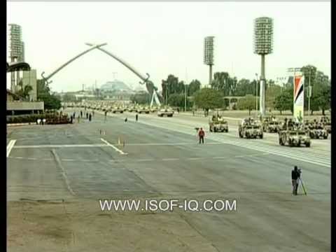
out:
M330 139L290 148L276 134L239 139L235 125L207 130L206 118L182 114L135 122L98 112L91 122L8 128L10 251L330 251ZM293 165L307 195L291 194ZM236 209L102 211L104 199Z

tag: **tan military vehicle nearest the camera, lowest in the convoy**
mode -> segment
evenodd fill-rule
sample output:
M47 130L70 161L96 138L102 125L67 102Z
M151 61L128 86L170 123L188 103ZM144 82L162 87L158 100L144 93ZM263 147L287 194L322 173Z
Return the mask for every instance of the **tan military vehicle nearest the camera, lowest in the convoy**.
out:
M281 146L301 146L310 147L311 141L309 134L305 130L281 130L279 131L279 144Z

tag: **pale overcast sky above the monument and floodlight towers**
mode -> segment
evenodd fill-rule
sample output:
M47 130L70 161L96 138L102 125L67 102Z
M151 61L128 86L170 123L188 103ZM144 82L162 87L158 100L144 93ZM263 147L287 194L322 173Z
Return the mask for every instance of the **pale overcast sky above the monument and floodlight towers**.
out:
M22 26L25 60L52 73L87 49L85 42L107 43L109 50L151 75L161 89L169 73L179 80L209 80L203 64L205 36L215 36L216 71L255 78L260 56L253 54L253 20L274 19L274 52L266 56L266 78L286 75L288 67L314 64L330 76L330 2L7 2L8 23ZM8 59L9 61L9 59ZM100 86L116 78L127 85L140 79L99 50L92 50L52 77L53 91ZM9 74L8 74L9 76Z

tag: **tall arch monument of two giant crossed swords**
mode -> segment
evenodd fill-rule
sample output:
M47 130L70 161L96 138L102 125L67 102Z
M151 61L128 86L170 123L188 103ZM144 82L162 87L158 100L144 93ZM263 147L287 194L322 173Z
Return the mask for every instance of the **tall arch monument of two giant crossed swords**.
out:
M104 53L106 53L107 55L113 57L113 59L116 59L118 62L120 62L121 64L123 64L124 66L127 67L127 69L130 69L130 71L132 71L133 73L135 73L139 78L141 78L142 82L139 82L141 85L146 85L146 89L148 91L148 93L151 95L151 107L153 106L153 103L155 102L158 106L161 106L160 104L160 100L158 99L158 92L157 92L157 88L153 85L153 83L151 82L151 80L149 80L149 74L146 73L147 76L144 76L143 74L139 73L139 71L137 71L136 69L134 69L133 66L131 66L130 64L128 64L127 62L125 62L125 60L121 59L120 57L114 55L112 52L109 52L108 50L105 50L104 48L102 48L102 46L107 45L107 43L101 43L101 44L92 44L92 43L85 43L85 45L90 46L89 49L85 50L84 52L81 52L80 54L76 55L75 57L71 58L70 60L68 60L67 62L65 62L64 64L62 64L62 66L59 66L59 68L57 68L55 71L53 71L52 73L50 73L48 76L44 76L44 71L43 73L41 73L41 76L43 78L43 81L46 84L52 83L52 80L50 80L50 78L52 76L54 76L58 71L60 71L61 69L63 69L65 66L67 66L68 64L70 64L71 62L73 62L74 60L78 59L78 57L81 57L83 55L85 55L87 52L90 52L94 49L100 50Z

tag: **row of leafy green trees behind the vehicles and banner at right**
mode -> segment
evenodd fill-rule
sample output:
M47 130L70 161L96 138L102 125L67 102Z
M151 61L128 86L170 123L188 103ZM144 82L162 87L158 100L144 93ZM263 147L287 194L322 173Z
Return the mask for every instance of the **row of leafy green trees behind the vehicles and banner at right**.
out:
M305 102L304 108L308 109L309 83L311 86L310 110L321 110L323 115L325 110L330 109L331 82L328 76L322 71L318 71L315 66L307 65L302 67L302 73L305 78ZM257 90L256 90L257 89ZM195 104L204 109L225 108L228 106L228 100L225 96L244 96L243 99L237 99L237 105L233 109L244 109L251 113L256 105L256 91L259 90L256 80L250 81L231 78L228 73L221 72L214 74L214 81L211 88L204 88L195 93ZM267 80L265 86L265 107L269 111L279 110L292 111L293 113L293 78L289 78L288 83L283 87L276 85L274 80Z

